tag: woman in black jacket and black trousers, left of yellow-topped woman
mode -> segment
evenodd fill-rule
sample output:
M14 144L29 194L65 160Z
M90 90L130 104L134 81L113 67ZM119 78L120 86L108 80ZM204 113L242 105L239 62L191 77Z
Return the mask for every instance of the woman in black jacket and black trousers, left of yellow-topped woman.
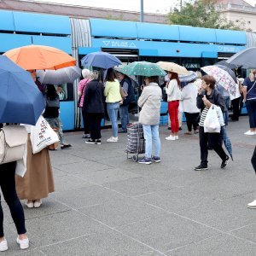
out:
M90 74L91 81L84 92L83 111L88 113L90 140L85 143L101 144L101 122L104 113L104 86L100 82L101 75L95 71Z

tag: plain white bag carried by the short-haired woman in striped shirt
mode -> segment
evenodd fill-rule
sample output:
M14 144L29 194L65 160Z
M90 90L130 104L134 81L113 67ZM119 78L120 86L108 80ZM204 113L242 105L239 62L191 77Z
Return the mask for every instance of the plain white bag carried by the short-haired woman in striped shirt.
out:
M209 133L219 133L220 125L218 121L218 113L216 106L212 104L207 112L207 116L204 122L204 131Z

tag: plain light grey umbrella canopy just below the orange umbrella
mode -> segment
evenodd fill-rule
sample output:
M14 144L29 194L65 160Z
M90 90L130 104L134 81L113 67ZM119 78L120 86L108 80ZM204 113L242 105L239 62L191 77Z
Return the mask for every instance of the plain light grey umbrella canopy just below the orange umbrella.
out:
M73 83L81 76L81 69L77 66L63 67L58 70L38 70L37 77L42 84Z

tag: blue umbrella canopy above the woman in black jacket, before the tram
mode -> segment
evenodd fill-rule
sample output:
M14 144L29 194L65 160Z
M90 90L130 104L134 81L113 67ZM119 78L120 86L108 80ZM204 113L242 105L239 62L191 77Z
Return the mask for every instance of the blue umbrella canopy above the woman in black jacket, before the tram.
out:
M107 52L96 51L84 56L81 60L81 64L84 67L101 67L108 69L110 67L122 65L122 62L119 61L117 57Z

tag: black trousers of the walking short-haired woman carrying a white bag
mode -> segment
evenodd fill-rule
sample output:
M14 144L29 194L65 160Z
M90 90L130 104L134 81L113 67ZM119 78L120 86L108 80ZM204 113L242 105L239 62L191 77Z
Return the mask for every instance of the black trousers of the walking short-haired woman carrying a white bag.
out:
M226 159L226 154L222 148L222 141L219 133L205 133L204 127L199 126L199 142L201 150L201 165L207 166L208 148L212 148L221 160Z

